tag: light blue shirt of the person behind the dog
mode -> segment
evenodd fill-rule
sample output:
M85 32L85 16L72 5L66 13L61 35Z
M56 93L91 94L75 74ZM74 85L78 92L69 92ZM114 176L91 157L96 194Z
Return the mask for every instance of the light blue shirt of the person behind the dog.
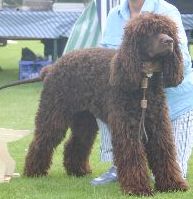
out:
M176 7L164 0L145 0L141 12L153 12L171 17L177 24L180 49L184 60L184 80L177 87L166 88L165 93L171 120L185 112L193 110L193 69L191 57L188 52L188 42ZM128 0L111 9L107 17L101 45L107 48L118 48L122 42L123 28L130 19Z

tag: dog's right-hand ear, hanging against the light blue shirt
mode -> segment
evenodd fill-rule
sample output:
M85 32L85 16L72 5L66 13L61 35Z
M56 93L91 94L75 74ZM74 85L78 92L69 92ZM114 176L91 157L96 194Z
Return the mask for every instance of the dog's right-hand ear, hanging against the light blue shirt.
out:
M174 51L163 59L163 80L165 87L173 87L183 80L183 58L177 38L174 38Z

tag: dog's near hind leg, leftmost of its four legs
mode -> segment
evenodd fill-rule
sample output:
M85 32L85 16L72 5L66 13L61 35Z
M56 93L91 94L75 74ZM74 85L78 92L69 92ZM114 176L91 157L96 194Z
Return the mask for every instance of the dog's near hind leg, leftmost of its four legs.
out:
M54 148L62 141L67 131L67 122L60 105L49 99L40 103L36 116L36 129L25 161L24 175L47 175Z

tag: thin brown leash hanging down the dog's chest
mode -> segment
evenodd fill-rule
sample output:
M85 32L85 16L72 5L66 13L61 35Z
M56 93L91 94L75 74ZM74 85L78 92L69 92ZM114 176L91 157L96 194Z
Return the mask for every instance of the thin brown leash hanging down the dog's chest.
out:
M141 105L141 118L139 122L139 140L143 139L143 135L145 136L146 142L148 142L147 132L145 130L145 113L147 109L147 99L146 99L146 91L148 88L148 80L152 77L153 73L145 73L144 78L142 79L141 88L143 89L143 99L140 102Z

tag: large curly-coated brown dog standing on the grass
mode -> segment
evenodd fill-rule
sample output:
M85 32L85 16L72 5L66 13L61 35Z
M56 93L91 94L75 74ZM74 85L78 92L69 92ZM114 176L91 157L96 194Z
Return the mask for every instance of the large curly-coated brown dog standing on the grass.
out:
M149 73L153 73L151 78ZM46 75L24 174L47 175L54 148L69 127L72 134L65 144L63 162L67 174L90 173L89 155L99 118L112 132L123 192L152 194L148 166L157 190L187 190L176 162L163 92L182 79L176 25L156 14L131 20L117 51L93 48L64 55Z

